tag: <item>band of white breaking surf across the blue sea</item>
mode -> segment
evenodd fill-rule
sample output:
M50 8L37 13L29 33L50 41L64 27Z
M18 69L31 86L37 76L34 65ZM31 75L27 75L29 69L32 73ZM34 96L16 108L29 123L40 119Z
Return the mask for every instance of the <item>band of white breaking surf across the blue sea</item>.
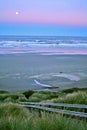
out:
M14 47L86 47L87 48L87 41L85 42L76 42L71 41L0 41L0 48L14 48Z

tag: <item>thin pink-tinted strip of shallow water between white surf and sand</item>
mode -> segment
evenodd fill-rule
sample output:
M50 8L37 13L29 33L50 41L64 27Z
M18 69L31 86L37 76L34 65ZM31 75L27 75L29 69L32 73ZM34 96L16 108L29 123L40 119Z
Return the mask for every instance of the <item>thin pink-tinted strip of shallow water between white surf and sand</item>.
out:
M0 48L1 54L87 55L87 48Z

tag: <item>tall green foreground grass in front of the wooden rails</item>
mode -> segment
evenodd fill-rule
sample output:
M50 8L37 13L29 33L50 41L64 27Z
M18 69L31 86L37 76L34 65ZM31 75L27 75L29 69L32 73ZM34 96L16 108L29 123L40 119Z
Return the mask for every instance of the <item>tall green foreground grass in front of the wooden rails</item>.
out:
M0 105L0 130L87 130L86 120L34 111L5 103Z

